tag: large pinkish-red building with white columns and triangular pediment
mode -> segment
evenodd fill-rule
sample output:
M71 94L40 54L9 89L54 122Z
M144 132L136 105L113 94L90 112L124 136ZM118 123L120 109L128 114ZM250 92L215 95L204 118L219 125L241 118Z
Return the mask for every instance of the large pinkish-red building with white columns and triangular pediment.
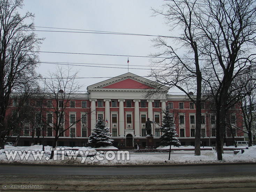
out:
M173 113L181 144L194 145L196 114L194 103L185 94L172 94L168 87L161 87L151 97L147 97L147 93L152 91L150 83L152 83L150 80L128 72L88 86L87 93L76 94L74 98L68 100L69 106L65 109L63 128L70 126L75 119L81 119L81 121L61 135L57 146L71 146L71 141L74 146L86 146L95 123L101 116L106 120L106 126L110 127L114 146L119 143L120 148L132 148L135 143L145 147L145 122L147 118L154 120L152 134L154 146L157 147L162 134L160 131L162 112L166 106L169 106L170 112ZM51 105L60 105L60 103L51 99L46 99L44 103L47 103L44 107L48 107L49 110L42 113L42 116L46 121L51 122L51 118L54 118L54 113L50 113ZM216 140L216 117L211 110L212 105L211 102L202 103L201 141L204 146L212 145ZM235 129L235 127L242 128L240 121L242 117L237 114L230 115L236 140L244 140L243 133ZM75 133L73 139L70 138L71 131ZM41 130L38 141L40 144L43 142L43 133L45 145L52 145L55 132L49 127L44 131ZM24 128L19 145L31 145L33 142L31 134L29 128ZM16 137L13 136L11 141L15 139ZM225 142L227 145L233 145L229 133L226 134Z

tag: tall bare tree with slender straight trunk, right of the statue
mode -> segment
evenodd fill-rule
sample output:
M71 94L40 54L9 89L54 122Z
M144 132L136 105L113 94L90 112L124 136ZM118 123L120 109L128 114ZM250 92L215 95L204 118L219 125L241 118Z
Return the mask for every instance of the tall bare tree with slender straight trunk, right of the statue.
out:
M163 6L163 10L153 9L155 15L163 15L166 23L171 30L181 28L180 37L171 37L175 39L179 47L175 48L173 41L168 42L165 39L170 37L159 37L154 39L156 48L163 48L164 51L154 56L167 56L163 60L152 60L154 64L161 66L161 70L151 70L151 76L154 76L156 82L170 87L177 87L183 91L188 98L196 105L196 132L195 132L195 155L200 155L200 137L201 137L201 96L202 96L202 69L199 61L200 52L198 50L198 30L194 24L196 1L170 0ZM186 54L183 54L185 52ZM191 83L196 82L196 83ZM190 92L196 92L193 97Z

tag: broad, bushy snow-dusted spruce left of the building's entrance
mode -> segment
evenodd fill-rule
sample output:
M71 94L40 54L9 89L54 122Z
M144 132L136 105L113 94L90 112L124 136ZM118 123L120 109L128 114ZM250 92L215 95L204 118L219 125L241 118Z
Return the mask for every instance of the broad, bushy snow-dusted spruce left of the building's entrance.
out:
M88 145L91 147L105 147L111 146L114 140L110 139L110 128L105 127L105 121L100 117L95 124L95 129L88 140Z

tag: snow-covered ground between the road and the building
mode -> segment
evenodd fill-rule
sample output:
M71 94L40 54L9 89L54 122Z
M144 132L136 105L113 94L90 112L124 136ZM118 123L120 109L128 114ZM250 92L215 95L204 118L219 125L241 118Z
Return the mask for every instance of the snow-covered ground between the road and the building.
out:
M245 148L239 146L236 148ZM160 147L169 148L167 147ZM172 148L177 148L173 147ZM193 146L181 146L180 151L171 153L171 159L168 160L169 153L132 153L128 151L113 152L115 147L106 147L109 151L97 152L90 147L59 147L54 152L53 159L50 159L51 147L45 146L42 151L42 145L29 147L5 146L0 150L0 163L35 163L35 164L88 164L88 165L131 165L131 164L203 164L203 163L225 163L225 162L256 162L256 146L245 149L241 153L234 155L233 151L224 151L223 161L217 160L217 153L212 150L201 151L200 156L195 156L194 151L185 151L185 148L194 148ZM228 148L234 148L229 146ZM95 155L96 154L96 155ZM121 155L120 155L121 154ZM73 156L73 157L72 157Z

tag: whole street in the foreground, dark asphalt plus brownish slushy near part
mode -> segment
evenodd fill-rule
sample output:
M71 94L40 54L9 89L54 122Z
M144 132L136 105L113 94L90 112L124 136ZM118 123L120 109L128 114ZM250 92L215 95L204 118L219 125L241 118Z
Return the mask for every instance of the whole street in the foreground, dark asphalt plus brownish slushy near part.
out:
M256 190L256 164L204 166L0 166L0 192Z

